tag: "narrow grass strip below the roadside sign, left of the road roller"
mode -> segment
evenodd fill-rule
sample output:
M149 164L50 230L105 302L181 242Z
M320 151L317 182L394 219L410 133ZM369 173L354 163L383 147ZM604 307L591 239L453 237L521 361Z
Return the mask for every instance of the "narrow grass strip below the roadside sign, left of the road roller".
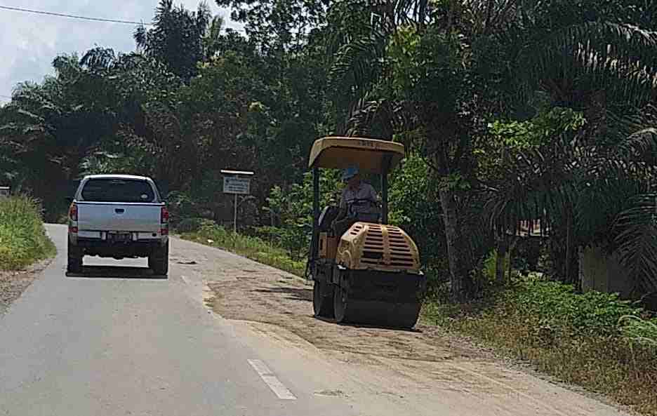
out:
M186 225L178 231L182 232L183 239L206 246L223 248L256 262L296 274L296 276L303 276L305 271L305 261L292 260L284 248L277 247L258 237L235 234L212 222L201 221Z

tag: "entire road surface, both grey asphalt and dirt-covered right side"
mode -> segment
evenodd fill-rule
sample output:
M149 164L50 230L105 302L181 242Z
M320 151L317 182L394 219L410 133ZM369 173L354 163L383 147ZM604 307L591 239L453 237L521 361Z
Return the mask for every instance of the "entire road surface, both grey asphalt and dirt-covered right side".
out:
M625 415L420 327L312 318L310 289L173 239L145 260L58 256L0 316L0 415Z

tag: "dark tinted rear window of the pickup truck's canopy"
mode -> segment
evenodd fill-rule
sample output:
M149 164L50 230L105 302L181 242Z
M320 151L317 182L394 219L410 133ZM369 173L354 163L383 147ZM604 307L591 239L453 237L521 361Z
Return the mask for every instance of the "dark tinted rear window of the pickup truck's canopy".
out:
M82 199L92 202L153 202L148 182L133 179L91 179L82 189Z

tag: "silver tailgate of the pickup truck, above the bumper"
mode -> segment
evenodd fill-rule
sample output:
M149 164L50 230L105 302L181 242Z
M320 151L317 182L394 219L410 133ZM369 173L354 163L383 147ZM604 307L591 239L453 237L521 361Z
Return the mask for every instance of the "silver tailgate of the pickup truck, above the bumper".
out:
M78 202L78 228L87 231L159 232L163 203Z

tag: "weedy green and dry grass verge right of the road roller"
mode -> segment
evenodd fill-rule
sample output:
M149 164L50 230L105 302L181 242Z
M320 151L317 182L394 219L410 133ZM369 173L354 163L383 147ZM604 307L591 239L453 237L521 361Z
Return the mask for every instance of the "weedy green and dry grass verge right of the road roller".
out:
M657 320L616 295L523 279L477 304L427 302L424 320L657 416Z

